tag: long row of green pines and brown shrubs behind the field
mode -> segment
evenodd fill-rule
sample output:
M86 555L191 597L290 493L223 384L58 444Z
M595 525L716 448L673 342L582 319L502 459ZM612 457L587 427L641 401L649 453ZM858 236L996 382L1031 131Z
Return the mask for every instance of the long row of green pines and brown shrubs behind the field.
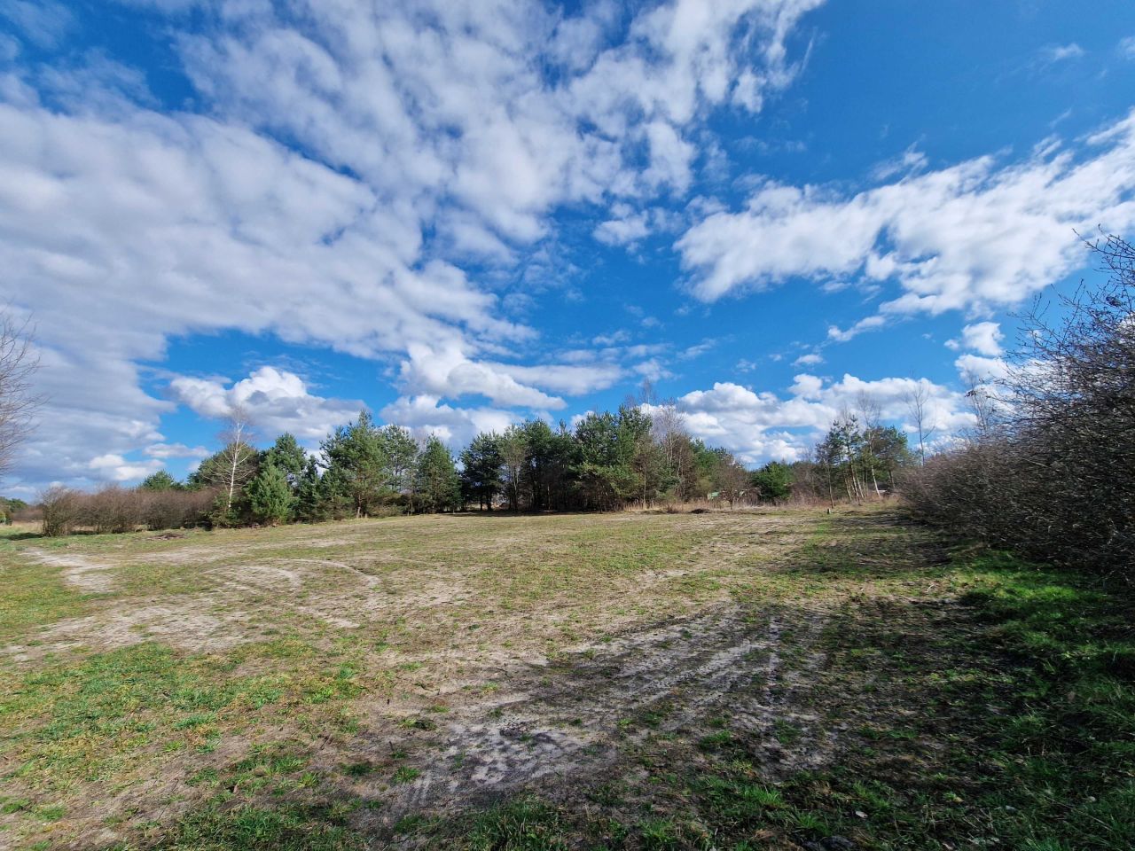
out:
M367 412L336 428L316 453L289 433L258 448L247 418L236 411L222 447L185 481L160 471L136 488L84 494L53 487L35 512L45 533L66 534L789 498L789 465L751 472L725 449L691 437L672 404L650 407L628 402L613 413L588 413L573 428L528 420L477 435L457 456L436 436L417 440L400 426L376 424Z

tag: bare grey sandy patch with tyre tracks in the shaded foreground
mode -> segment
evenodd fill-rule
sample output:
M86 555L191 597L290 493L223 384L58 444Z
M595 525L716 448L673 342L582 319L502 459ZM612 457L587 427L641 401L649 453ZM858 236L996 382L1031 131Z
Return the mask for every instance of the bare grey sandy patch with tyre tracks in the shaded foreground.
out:
M381 800L369 829L410 812L445 812L520 789L562 794L604 773L617 775L628 748L651 734L698 739L717 718L762 738L771 775L824 762L834 736L817 724L801 692L823 662L815 644L822 610L787 615L722 606L692 618L627 632L552 665L515 667L491 697L422 715L430 730L387 730L370 749L411 749L417 777L352 790ZM790 621L791 618L791 621ZM791 646L784 647L787 633ZM785 745L774 734L791 725ZM436 726L435 726L436 725Z

